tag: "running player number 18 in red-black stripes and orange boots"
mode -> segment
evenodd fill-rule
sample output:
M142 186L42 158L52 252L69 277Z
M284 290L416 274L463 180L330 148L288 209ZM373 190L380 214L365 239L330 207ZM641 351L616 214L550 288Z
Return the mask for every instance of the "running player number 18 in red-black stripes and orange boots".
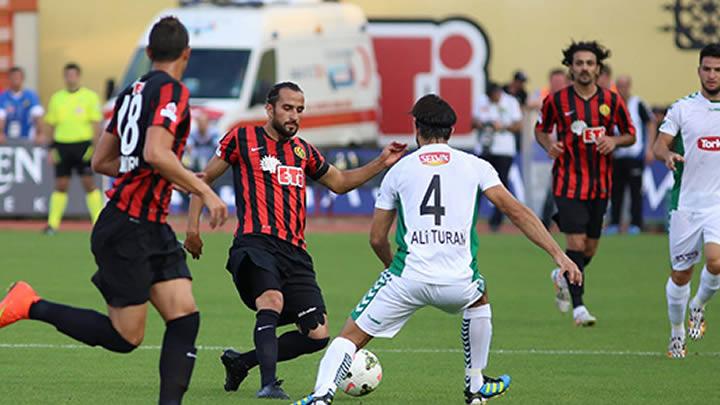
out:
M227 218L227 207L179 160L190 129L188 90L179 81L190 57L182 23L157 22L147 55L151 72L118 95L92 159L93 170L117 177L91 238L92 281L108 316L43 300L19 282L0 302L0 327L36 319L90 346L129 353L143 340L150 301L166 322L159 403L177 405L190 383L200 317L185 253L165 223L173 184L202 198L211 225Z

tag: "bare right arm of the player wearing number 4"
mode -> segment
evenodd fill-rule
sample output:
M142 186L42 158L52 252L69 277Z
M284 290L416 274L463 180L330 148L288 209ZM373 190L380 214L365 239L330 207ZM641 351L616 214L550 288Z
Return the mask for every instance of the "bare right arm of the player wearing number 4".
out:
M570 282L582 284L582 273L575 263L560 248L552 235L545 229L540 219L522 203L513 197L503 185L497 185L485 190L485 196L505 215L513 224L533 243L548 252L560 268L561 274L568 273Z

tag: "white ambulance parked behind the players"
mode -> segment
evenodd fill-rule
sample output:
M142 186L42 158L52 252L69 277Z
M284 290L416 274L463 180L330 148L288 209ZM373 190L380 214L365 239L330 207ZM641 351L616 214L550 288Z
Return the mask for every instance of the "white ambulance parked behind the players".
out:
M221 132L264 124L270 87L293 81L305 92L304 139L321 147L377 141L379 77L359 7L320 0L181 4L148 24L119 89L150 69L145 55L150 29L173 15L190 34L183 83L193 111L204 111Z

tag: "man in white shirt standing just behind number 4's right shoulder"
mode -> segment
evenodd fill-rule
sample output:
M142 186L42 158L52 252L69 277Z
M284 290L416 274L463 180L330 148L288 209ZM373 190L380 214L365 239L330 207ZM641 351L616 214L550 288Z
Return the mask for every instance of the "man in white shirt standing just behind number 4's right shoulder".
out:
M476 152L490 162L500 181L509 188L508 175L517 155L513 133L522 126L520 103L496 83L488 83L487 95L473 108L473 126L478 129ZM488 221L491 231L500 229L502 218L502 212L495 207Z

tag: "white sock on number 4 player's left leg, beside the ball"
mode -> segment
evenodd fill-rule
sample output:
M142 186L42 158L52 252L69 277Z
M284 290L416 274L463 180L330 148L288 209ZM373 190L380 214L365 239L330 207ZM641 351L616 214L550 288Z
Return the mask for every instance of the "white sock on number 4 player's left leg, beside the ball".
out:
M335 395L338 384L350 371L352 359L357 347L355 343L343 337L333 339L322 360L315 380L315 396L321 397L328 392Z

